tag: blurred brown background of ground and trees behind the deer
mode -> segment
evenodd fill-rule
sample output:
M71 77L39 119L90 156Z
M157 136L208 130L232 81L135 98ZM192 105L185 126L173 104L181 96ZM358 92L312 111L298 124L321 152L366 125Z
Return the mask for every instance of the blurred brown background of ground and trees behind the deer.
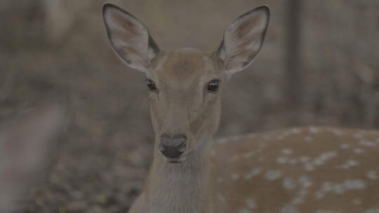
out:
M109 46L105 1L0 0L0 121L65 94L72 125L48 181L21 212L126 212L152 160L145 76ZM166 49L215 50L267 4L253 65L232 77L216 137L302 125L379 127L379 1L112 0Z

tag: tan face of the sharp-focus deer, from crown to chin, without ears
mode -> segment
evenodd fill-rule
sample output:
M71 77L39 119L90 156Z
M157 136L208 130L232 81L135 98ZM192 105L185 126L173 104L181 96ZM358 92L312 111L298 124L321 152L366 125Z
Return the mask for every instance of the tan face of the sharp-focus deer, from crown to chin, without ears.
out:
M215 133L225 74L217 61L199 50L162 53L147 74L157 148L176 161Z

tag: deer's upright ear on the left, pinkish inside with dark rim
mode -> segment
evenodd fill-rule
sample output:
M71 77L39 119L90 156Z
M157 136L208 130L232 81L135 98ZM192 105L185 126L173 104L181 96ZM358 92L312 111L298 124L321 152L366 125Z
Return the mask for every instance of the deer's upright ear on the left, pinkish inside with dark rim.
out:
M114 51L129 67L148 71L159 53L149 30L133 15L112 4L102 6L107 34Z

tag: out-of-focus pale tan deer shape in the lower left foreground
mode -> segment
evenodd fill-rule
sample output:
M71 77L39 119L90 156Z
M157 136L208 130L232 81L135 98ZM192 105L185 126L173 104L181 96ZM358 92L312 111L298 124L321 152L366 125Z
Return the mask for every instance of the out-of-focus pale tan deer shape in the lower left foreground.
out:
M0 212L19 211L32 186L50 172L58 136L68 124L67 107L45 100L0 123Z

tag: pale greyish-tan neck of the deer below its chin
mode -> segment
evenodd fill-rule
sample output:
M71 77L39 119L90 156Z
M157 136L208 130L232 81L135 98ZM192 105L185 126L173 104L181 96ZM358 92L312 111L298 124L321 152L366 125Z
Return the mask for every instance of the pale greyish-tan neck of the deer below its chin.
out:
M145 189L147 212L210 212L211 137L182 163L167 163L157 150Z

